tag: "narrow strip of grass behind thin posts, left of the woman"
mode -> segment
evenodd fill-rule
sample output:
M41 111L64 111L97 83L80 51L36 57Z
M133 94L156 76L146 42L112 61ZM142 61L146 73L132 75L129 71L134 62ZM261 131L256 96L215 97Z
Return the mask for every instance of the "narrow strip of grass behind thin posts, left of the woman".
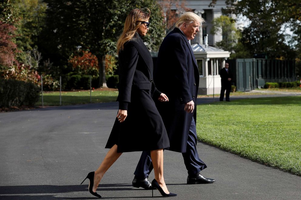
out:
M75 105L90 103L90 90L79 91L63 91L62 105ZM117 89L96 89L92 90L91 103L103 103L116 101L118 95ZM43 93L44 106L59 106L59 92L44 92ZM36 106L42 106L42 96Z

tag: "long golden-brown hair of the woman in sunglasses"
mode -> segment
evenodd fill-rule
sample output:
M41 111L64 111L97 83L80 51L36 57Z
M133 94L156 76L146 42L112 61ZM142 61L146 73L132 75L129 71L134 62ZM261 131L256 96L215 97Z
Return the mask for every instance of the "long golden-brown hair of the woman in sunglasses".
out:
M125 19L123 31L117 41L117 54L120 50L123 50L124 44L132 40L137 29L140 27L143 21L147 21L150 18L151 11L148 8L134 9L130 11Z

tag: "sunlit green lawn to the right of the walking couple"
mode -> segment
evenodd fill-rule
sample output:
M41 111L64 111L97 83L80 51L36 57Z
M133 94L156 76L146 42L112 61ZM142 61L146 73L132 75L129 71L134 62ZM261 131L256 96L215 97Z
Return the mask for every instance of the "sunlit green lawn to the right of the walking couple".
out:
M198 139L301 175L301 97L198 105Z

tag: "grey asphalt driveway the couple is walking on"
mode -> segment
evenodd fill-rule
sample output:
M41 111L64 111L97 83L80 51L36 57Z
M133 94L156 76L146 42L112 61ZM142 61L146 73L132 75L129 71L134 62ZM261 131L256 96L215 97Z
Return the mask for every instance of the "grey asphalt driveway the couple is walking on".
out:
M254 98L294 94L250 95ZM299 95L299 94L297 94ZM218 98L215 99L215 101ZM198 103L213 102L212 97ZM0 113L0 199L94 199L88 172L108 149L117 103L48 107ZM164 151L164 178L172 199L301 199L301 177L198 142L213 184L187 185L180 153ZM140 152L123 153L97 192L103 199L157 199L160 193L131 186ZM154 178L153 172L150 180Z

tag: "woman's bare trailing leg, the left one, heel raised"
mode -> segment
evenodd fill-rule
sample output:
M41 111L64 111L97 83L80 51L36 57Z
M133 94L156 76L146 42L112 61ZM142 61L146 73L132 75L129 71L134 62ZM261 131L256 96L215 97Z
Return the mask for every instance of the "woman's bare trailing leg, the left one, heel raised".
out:
M122 153L117 153L117 145L115 144L104 157L103 162L101 162L99 168L95 171L94 174L94 185L93 192L96 192L97 186L100 183L100 180L103 178L103 175L107 172L110 166L119 158ZM162 171L163 172L163 171Z

